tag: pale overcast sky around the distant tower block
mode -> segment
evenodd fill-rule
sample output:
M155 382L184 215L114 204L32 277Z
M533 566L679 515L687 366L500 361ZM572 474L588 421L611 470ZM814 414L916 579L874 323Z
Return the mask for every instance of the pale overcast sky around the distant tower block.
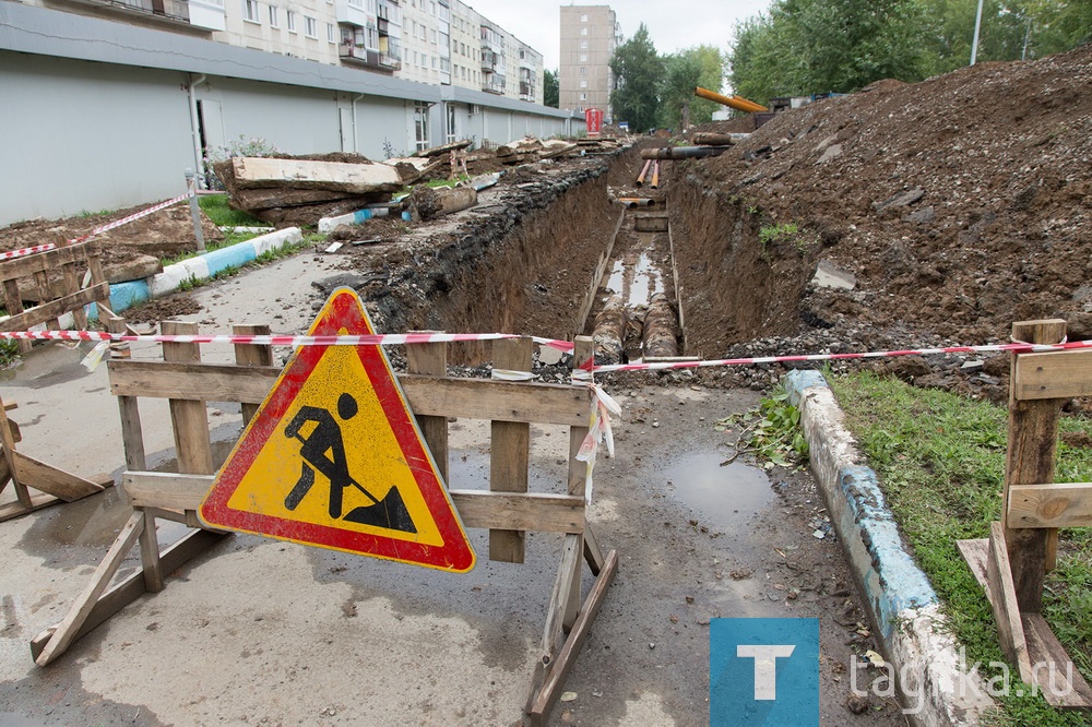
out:
M770 0L614 0L613 2L558 2L558 0L465 0L495 23L545 56L546 68L557 70L560 52L561 5L610 5L621 32L631 38L644 23L661 55L691 46L711 45L726 50L736 21L757 15Z

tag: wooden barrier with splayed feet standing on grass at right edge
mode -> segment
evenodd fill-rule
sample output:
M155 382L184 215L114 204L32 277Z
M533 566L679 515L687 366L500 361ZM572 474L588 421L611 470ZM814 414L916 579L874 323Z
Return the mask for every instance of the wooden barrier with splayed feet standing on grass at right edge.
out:
M1060 343L1061 320L1012 326L1014 341ZM1043 579L1057 559L1059 527L1092 525L1092 484L1054 484L1061 406L1092 396L1092 351L1011 355L1009 443L1004 522L989 537L960 540L997 620L1001 649L1046 701L1063 708L1092 708L1092 689L1043 619Z

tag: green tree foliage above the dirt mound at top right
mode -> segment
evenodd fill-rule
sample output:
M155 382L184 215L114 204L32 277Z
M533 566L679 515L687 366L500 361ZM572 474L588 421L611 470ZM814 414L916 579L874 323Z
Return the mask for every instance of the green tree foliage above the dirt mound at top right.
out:
M736 26L732 87L764 103L946 73L970 62L976 10L977 0L774 0ZM1090 36L1090 0L985 0L977 59L1037 58Z

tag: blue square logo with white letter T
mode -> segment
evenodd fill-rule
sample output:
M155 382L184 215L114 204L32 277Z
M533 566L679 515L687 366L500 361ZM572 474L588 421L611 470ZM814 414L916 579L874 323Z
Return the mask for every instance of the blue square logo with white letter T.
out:
M819 725L819 619L713 619L711 727Z

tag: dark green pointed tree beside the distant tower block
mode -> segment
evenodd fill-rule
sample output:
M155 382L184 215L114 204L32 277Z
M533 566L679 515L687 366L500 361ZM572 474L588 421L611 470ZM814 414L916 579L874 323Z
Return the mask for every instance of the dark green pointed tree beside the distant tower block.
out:
M615 121L628 121L633 131L652 129L660 106L664 61L656 53L649 28L641 23L633 37L618 46L610 59L615 91L610 94Z

